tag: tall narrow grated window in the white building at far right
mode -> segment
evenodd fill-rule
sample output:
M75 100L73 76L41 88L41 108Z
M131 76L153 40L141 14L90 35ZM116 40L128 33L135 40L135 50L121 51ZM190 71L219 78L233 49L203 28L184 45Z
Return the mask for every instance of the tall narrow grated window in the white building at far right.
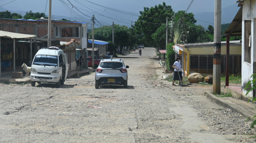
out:
M251 20L244 20L244 61L247 63L251 63L251 46L249 46L251 25Z

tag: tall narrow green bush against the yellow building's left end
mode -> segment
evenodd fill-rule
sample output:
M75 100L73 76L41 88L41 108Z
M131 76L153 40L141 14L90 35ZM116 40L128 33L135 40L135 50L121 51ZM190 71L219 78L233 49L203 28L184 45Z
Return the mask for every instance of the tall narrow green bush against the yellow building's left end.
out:
M167 69L170 71L172 69L172 65L175 62L175 52L173 50L174 43L167 44L167 52L166 52L166 65Z

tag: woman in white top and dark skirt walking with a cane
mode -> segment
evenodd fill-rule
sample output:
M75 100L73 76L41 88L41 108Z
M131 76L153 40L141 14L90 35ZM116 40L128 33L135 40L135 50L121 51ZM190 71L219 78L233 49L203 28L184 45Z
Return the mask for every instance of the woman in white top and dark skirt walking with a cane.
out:
M174 84L175 80L179 80L180 86L183 86L180 61L181 61L181 57L178 57L172 66L174 68L173 81L172 81L173 86L175 86L175 84Z

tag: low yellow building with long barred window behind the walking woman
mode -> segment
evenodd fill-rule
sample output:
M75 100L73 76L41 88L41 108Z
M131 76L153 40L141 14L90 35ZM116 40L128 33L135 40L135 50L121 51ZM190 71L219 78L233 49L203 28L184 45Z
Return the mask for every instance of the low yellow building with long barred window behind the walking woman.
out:
M173 46L176 56L181 57L184 76L192 73L213 74L214 43L192 43ZM229 73L241 75L242 43L230 41ZM175 56L175 57L176 57ZM226 69L226 41L221 42L221 73Z

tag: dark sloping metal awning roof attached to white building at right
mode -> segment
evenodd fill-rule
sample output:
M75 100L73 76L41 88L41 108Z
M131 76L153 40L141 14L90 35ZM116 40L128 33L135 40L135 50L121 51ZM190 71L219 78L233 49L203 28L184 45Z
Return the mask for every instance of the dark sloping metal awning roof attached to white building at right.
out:
M242 34L242 14L243 7L241 6L228 29L225 31L225 35Z

